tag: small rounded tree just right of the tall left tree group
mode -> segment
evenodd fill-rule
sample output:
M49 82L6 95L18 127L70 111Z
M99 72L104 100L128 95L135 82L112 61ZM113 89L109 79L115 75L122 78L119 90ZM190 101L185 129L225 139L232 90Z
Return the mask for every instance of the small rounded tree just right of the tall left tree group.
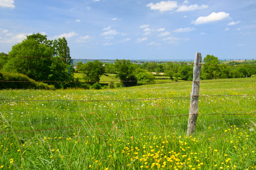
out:
M103 63L98 60L87 62L80 70L84 73L84 79L90 82L100 82L101 75L105 73Z

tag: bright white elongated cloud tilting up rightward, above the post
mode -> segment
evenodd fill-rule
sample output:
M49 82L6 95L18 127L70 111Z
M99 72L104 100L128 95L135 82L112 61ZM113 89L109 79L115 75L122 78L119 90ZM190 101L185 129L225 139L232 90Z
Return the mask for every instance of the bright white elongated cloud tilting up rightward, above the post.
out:
M210 22L216 22L218 20L222 20L225 18L228 18L229 14L226 12L212 12L212 14L208 16L200 16L196 19L196 21L192 21L193 24L204 24L204 23L210 23Z

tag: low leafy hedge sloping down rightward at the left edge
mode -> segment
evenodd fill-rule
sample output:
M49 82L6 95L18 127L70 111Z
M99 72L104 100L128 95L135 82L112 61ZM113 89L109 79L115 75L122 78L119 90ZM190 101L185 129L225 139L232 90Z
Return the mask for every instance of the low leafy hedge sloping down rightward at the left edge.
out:
M28 78L28 76L19 73L8 73L0 71L0 80L13 82L0 82L0 89L46 89L54 90L55 87L42 82L35 82L35 80ZM20 82L22 81L22 82Z

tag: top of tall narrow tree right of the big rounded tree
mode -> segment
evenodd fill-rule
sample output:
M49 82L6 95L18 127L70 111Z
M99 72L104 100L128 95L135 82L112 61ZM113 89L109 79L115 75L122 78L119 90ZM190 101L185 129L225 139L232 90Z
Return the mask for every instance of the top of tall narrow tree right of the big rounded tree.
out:
M70 57L70 50L68 47L68 42L63 37L62 39L54 40L53 41L53 46L55 47L56 50L56 56L63 58L64 62L67 64L71 64L71 57Z

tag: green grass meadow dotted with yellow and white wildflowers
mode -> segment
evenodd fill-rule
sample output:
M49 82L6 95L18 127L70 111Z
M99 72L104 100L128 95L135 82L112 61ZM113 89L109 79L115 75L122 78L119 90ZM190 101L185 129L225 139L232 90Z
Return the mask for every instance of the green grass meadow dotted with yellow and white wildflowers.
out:
M256 169L255 80L2 90L0 169Z

